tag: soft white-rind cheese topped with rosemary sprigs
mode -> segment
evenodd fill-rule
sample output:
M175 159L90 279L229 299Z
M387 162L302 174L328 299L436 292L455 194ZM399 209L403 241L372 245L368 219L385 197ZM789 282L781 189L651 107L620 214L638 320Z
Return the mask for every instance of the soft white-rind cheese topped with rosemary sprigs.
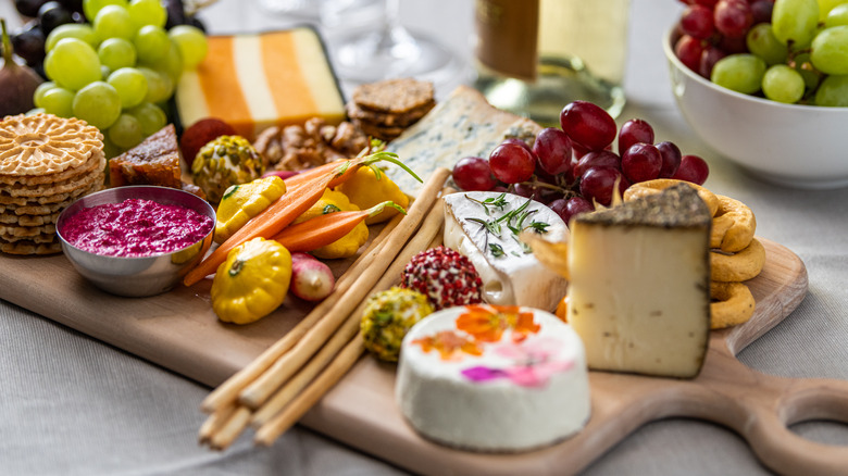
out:
M564 241L569 228L544 204L512 193L458 192L445 197L445 246L467 256L495 305L556 309L568 281L545 267L519 240L522 230Z

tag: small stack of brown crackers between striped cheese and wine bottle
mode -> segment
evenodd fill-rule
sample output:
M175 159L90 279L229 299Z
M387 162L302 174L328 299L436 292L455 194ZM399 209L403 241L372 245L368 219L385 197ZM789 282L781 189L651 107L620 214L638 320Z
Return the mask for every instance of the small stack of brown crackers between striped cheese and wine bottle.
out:
M433 84L412 78L361 85L347 105L350 121L364 134L391 141L433 107Z

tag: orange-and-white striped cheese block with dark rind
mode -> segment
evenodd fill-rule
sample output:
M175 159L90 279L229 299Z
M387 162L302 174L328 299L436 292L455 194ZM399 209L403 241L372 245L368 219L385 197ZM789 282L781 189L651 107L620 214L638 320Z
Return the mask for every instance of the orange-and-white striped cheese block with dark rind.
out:
M219 117L249 140L315 116L338 124L344 102L321 38L309 27L209 37L207 58L183 73L176 92L185 127Z

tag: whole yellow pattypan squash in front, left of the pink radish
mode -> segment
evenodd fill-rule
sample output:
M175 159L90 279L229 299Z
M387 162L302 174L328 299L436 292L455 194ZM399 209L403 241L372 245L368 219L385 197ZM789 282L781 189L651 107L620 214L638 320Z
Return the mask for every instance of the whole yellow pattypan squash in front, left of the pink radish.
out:
M250 324L286 299L291 254L274 240L253 238L234 248L212 280L212 309L221 321Z

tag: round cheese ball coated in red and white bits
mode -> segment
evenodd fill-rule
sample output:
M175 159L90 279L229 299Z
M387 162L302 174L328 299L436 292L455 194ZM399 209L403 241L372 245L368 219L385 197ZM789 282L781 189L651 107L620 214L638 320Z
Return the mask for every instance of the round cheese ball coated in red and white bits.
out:
M436 311L483 302L483 280L474 264L444 246L414 255L400 275L400 287L426 295Z

